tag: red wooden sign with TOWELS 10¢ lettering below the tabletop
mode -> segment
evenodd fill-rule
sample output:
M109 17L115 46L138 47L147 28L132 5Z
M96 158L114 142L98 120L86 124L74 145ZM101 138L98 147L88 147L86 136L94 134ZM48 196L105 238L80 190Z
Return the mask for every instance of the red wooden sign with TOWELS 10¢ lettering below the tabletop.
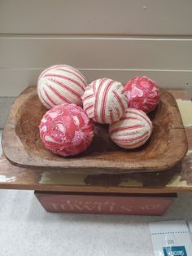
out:
M84 214L163 215L177 194L35 192L46 211Z

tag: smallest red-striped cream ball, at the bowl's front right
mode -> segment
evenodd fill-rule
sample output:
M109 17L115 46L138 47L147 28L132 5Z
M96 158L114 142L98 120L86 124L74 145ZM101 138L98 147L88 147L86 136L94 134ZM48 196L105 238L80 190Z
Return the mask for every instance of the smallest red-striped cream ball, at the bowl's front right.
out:
M146 143L151 133L150 118L136 108L127 108L124 117L109 126L111 140L121 148L138 148Z

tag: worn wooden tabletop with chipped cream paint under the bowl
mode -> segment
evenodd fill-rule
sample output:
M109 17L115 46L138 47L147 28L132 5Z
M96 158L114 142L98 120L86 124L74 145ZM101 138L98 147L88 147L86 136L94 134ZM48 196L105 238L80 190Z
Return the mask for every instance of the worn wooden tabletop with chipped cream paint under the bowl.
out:
M190 113L192 102L185 91L172 90L172 95L186 108L181 117ZM132 174L66 174L63 170L34 170L13 166L6 157L0 158L0 188L31 189L50 192L126 192L170 193L192 192L192 122L184 120L189 150L180 164L166 171ZM12 142L14 143L14 142Z

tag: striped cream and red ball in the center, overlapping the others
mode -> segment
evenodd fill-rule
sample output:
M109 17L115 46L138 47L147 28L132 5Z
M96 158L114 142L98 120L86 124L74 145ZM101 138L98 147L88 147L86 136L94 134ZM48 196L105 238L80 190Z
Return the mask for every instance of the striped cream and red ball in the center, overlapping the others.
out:
M109 78L94 80L82 99L88 117L103 124L120 120L128 106L124 86Z

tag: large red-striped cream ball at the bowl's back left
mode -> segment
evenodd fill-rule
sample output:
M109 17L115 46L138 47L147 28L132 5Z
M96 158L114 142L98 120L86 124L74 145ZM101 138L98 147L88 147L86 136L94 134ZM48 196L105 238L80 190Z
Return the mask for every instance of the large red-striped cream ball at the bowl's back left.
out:
M63 103L81 106L85 86L85 77L76 68L55 65L41 73L37 82L37 92L46 108Z

